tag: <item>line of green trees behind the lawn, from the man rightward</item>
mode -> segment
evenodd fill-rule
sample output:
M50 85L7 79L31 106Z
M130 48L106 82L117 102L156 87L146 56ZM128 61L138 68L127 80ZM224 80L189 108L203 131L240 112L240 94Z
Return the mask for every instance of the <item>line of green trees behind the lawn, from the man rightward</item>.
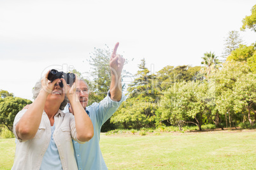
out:
M252 15L243 19L241 30L255 30L255 6ZM253 18L254 17L254 18ZM205 53L201 66L167 65L150 74L146 60L141 60L136 75L124 84L127 100L104 124L102 131L115 128L140 129L156 126L216 124L219 128L248 124L255 127L256 119L256 44L243 44L239 32L232 30L225 39L223 56ZM108 69L110 50L95 49L90 56L94 81L90 101L100 101L110 84ZM199 63L200 64L200 63Z

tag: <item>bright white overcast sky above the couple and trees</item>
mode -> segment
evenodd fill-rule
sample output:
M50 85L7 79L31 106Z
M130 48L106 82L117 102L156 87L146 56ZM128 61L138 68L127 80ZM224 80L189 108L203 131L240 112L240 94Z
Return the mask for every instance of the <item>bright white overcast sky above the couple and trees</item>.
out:
M94 48L111 49L135 74L145 58L157 72L167 65L200 65L206 52L222 55L224 37L239 30L254 0L0 0L0 89L32 100L46 70L89 72ZM256 32L240 32L247 44ZM134 58L133 61L132 58ZM83 62L85 61L85 62ZM90 78L90 77L89 77Z

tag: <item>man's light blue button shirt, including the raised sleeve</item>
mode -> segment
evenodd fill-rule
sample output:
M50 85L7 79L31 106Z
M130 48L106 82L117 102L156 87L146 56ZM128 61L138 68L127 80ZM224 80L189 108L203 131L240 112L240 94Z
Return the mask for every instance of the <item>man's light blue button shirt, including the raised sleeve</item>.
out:
M99 103L93 103L89 107L86 107L87 114L89 112L89 117L94 126L94 137L85 144L79 144L73 141L76 163L79 170L108 169L101 154L101 148L99 147L101 126L115 113L123 101L125 101L125 95L122 95L120 101L113 101L110 96L106 96ZM69 112L68 105L65 107L64 112Z

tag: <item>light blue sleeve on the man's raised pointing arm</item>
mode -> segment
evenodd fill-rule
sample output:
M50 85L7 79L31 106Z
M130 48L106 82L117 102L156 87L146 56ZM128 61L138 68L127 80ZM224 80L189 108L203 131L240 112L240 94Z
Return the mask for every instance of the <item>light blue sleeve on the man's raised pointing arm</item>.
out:
M123 93L120 101L111 100L109 94L110 91L108 91L108 95L103 100L101 100L99 105L96 107L97 121L99 122L99 126L103 126L104 122L110 119L111 115L113 115L115 111L117 111L118 107L120 107L122 102L126 100L126 97Z

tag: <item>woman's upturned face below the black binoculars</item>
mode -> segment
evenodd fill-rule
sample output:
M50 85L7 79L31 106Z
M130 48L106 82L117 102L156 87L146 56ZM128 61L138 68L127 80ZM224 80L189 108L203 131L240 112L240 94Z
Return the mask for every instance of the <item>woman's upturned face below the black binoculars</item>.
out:
M54 85L54 88L52 89L52 93L50 93L47 96L46 100L60 101L60 103L62 103L62 101L64 101L65 93L64 93L63 88L60 88L59 83L60 83L60 81L58 81Z

